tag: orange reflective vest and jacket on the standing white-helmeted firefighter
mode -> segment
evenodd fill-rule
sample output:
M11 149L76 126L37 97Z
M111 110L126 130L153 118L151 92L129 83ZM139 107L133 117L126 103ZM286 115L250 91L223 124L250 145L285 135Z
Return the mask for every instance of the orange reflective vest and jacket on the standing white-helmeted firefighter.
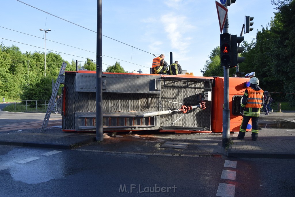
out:
M245 90L241 108L244 109L245 116L258 117L260 115L260 109L263 106L263 90L254 90L248 87Z

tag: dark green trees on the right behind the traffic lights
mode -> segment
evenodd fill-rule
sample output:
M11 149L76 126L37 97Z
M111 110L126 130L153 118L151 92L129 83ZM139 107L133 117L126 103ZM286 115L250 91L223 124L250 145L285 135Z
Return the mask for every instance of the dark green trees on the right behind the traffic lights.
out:
M239 64L239 71L254 71L263 90L285 92L272 97L295 103L295 94L286 94L295 93L295 0L272 0L272 4L276 12L268 26L257 32L255 42L243 42L245 61ZM215 48L204 64L204 76L223 76L219 50ZM230 69L230 76L235 72L236 68Z

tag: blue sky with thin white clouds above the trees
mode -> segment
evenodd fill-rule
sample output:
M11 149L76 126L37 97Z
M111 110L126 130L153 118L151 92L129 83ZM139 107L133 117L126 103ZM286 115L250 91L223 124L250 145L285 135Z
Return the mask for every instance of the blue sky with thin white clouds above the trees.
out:
M220 1L217 1L220 3ZM274 17L271 0L237 0L228 6L230 34L240 35L245 16L254 17L251 42ZM71 62L96 62L97 0L1 0L0 42L22 53L59 53ZM46 33L39 29L51 31ZM215 0L102 0L103 71L118 61L126 71L150 73L155 56L202 76L220 45ZM155 55L155 56L154 56Z

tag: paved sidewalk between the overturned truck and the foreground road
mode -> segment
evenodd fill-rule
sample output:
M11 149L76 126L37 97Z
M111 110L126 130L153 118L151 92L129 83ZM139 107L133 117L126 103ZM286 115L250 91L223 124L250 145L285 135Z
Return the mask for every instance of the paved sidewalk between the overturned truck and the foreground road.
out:
M227 148L222 147L222 133L143 134L141 132L114 136L109 134L111 137L105 133L104 141L98 142L95 141L96 133L63 132L61 120L49 121L50 126L47 126L47 130L42 133L40 128L18 128L19 130L10 131L0 128L0 144L114 154L295 158L295 126L288 125L285 128L284 120L294 122L295 125L295 111L261 114L260 124L263 125L263 129L259 132L258 140L252 141L250 132L246 133L244 140L238 140L237 133L231 133L232 144Z

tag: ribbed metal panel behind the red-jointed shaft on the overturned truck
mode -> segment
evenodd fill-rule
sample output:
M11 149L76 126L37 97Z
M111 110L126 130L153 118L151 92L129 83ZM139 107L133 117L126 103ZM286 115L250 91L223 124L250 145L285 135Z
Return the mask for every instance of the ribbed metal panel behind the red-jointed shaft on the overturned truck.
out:
M181 108L181 105L198 105L202 91L210 89L211 81L164 80L161 81L161 106L163 110ZM165 84L165 85L164 85ZM170 101L170 102L169 102ZM177 102L177 103L173 103ZM182 104L178 104L182 103ZM161 126L207 127L211 128L211 101L206 101L205 110L194 109L176 114L160 115ZM183 116L182 116L183 115Z

